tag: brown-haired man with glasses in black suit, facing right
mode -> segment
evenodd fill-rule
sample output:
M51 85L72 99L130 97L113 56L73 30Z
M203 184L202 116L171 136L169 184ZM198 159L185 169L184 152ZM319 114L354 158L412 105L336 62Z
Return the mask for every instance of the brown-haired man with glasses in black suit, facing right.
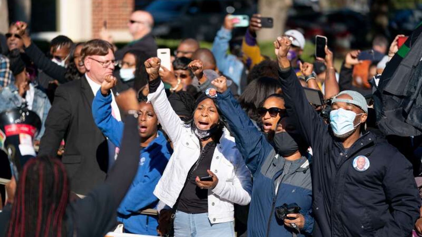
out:
M90 40L81 51L87 69L80 80L59 86L46 119L46 131L41 138L40 155L56 156L65 140L62 162L71 181L71 190L87 194L106 178L108 161L114 160L113 144L108 142L92 117L92 100L104 78L112 76L115 59L113 46L104 40ZM123 84L116 91L124 90ZM115 93L115 92L113 92ZM113 96L113 115L120 119Z

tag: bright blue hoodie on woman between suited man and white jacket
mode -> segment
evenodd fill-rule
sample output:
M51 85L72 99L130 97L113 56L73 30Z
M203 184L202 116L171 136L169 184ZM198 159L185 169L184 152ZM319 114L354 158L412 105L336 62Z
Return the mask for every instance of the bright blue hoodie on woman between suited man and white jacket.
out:
M97 92L92 102L95 124L116 146L120 146L123 123L111 116L111 95L104 97ZM160 180L173 150L158 131L158 136L141 151L138 173L117 209L117 220L124 224L127 232L157 235L158 220L155 216L138 214L139 210L156 208L158 198L152 194Z

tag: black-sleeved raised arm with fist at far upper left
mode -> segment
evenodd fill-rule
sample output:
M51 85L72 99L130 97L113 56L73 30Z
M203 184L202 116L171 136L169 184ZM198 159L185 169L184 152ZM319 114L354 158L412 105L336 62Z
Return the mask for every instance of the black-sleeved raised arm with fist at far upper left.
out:
M21 24L16 25L16 27L18 28L19 35L24 42L25 53L28 57L30 57L32 62L34 62L35 66L60 83L66 83L66 68L52 62L34 43L31 42L31 38L26 33L27 24L22 22Z

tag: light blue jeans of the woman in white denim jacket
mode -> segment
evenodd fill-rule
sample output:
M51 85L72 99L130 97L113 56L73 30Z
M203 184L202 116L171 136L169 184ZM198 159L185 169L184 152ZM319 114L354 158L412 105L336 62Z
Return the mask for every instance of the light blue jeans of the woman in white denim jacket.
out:
M174 237L235 237L234 221L211 224L208 213L188 214L176 211Z

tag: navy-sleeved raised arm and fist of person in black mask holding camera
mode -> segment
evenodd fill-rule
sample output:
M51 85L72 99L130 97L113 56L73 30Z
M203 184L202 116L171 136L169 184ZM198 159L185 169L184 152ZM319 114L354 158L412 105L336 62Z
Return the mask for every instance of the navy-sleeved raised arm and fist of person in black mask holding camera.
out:
M265 136L258 131L251 119L246 115L230 90L227 90L227 79L216 78L212 84L219 92L217 104L223 117L235 137L236 148L240 151L252 174L260 170L265 157L273 149Z

